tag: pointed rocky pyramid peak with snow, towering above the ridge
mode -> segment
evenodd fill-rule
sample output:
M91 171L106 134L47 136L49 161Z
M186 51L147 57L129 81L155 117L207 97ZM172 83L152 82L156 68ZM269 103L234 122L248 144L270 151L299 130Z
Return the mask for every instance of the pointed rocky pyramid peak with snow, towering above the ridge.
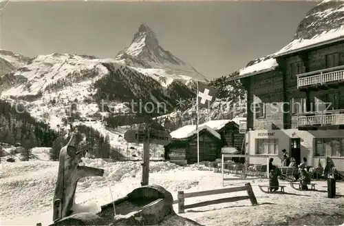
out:
M166 84L171 83L172 79L207 81L206 77L191 65L164 50L159 45L155 32L146 24L140 25L129 47L120 51L116 60L138 68L144 74L156 74L161 79L166 78Z

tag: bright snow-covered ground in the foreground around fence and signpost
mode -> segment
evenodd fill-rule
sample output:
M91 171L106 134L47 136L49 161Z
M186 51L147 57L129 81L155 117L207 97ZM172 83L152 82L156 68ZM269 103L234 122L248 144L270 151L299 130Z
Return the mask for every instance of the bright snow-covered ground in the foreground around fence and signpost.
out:
M83 178L76 189L78 209L92 207L96 212L100 205L111 202L108 183L114 198L119 198L140 186L141 166L138 162L107 163L100 159L83 158L91 167L105 169L104 177ZM222 188L222 175L197 170L195 165L180 167L173 163L151 163L149 182L161 185L177 199L177 192L195 192ZM0 164L0 216L1 225L35 225L52 223L52 199L58 162L28 161ZM226 175L228 177L228 175ZM247 181L230 181L226 187L241 186ZM325 192L299 192L289 185L290 194L266 194L257 185L268 181L249 181L259 205L252 207L250 201L223 203L194 209L186 209L187 218L203 225L266 225L286 222L288 217L305 214L343 214L344 198L326 198ZM283 183L283 181L280 181ZM326 190L325 182L317 182L317 189ZM337 192L344 194L344 184L337 183ZM186 198L186 205L245 195L246 192ZM175 212L178 206L174 205Z

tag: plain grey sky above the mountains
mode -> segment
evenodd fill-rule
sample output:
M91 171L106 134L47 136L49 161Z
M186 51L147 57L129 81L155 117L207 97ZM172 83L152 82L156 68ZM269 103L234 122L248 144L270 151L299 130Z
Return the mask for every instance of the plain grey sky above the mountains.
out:
M141 23L162 48L213 79L281 49L317 2L10 2L1 48L114 58Z

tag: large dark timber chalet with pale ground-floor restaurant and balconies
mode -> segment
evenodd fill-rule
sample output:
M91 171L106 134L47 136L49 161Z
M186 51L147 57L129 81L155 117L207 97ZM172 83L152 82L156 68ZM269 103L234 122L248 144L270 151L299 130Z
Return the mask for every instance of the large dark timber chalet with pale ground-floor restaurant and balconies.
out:
M336 32L334 32L336 33ZM233 76L247 95L248 152L281 165L286 149L299 164L344 171L344 37L294 41ZM266 158L249 159L264 164Z

